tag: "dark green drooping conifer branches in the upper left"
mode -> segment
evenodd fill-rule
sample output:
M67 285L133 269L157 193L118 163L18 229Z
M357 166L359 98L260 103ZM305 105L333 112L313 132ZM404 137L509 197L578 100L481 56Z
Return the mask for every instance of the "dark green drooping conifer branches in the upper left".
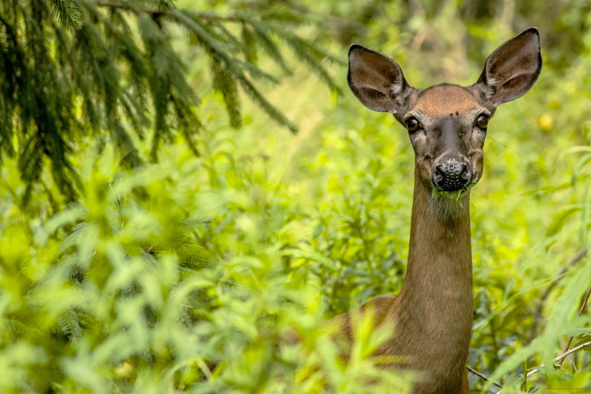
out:
M73 200L79 178L69 155L82 136L114 142L128 167L145 159L130 132L151 138L150 161L157 161L161 144L177 133L198 154L199 92L171 47L176 27L209 57L213 89L223 97L230 125L241 126L240 87L279 125L296 132L256 86L278 82L257 59L262 51L288 73L284 48L289 47L339 92L321 63L336 58L293 32L308 22L306 15L282 6L217 15L176 8L170 0L2 0L0 160L18 158L28 185L25 200L45 164Z

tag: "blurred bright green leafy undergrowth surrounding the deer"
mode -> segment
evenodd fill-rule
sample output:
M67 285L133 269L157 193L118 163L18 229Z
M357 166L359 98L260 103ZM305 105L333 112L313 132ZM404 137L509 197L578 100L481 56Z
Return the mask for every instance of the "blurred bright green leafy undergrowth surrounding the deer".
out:
M532 25L544 66L502 105L473 188L474 323L467 364L505 392L591 389L591 356L531 370L591 340L576 317L591 284L591 4L588 1L191 1L229 14L284 6L337 59L361 43L394 58L410 84L471 84L486 57ZM6 6L6 4L5 4ZM259 83L298 133L242 98L232 128L209 58L181 28L170 41L199 92L196 157L181 138L131 170L116 144L80 136L69 155L79 196L50 170L24 198L17 159L0 181L0 389L35 393L398 393L411 376L375 369L381 333L359 323L343 364L322 321L400 291L410 229L413 151L392 115L366 109L296 55ZM304 62L305 63L305 62ZM126 125L126 127L131 127ZM139 156L150 141L134 136ZM46 164L48 167L48 164ZM578 256L577 256L578 255ZM583 258L580 258L583 256ZM574 259L579 257L579 259ZM296 330L301 344L277 346ZM591 349L591 348L586 348ZM367 386L368 376L381 383ZM469 373L474 393L496 393Z

